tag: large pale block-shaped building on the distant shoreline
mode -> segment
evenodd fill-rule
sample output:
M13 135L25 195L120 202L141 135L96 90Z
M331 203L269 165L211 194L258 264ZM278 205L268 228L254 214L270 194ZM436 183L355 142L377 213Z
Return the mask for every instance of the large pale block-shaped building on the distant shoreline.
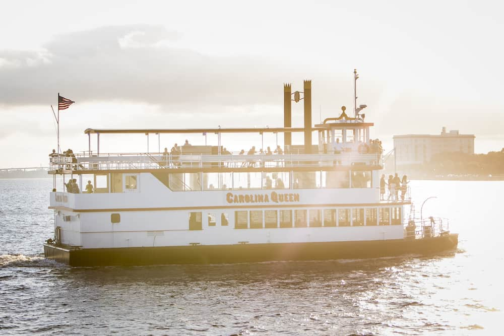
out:
M421 165L439 153L474 154L473 134L460 134L458 130L447 132L443 127L439 135L394 136L397 166Z

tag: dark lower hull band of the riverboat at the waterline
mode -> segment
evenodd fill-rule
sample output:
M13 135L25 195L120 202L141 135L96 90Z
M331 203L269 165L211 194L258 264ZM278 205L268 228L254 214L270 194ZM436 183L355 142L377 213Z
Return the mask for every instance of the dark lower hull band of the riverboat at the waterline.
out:
M212 264L427 254L455 249L457 244L458 234L423 239L93 249L44 244L44 255L71 266Z

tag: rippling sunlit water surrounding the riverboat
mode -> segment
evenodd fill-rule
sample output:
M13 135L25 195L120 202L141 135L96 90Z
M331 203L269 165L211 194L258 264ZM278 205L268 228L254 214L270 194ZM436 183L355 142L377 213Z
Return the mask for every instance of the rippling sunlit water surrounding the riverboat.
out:
M52 180L0 180L0 334L501 334L503 187L412 182L444 254L72 268L42 257Z

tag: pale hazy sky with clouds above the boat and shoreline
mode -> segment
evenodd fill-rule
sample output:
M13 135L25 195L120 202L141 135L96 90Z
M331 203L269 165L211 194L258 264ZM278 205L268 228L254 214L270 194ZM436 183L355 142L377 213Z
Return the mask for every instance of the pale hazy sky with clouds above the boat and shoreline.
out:
M371 136L476 135L504 147L501 2L40 2L0 11L0 167L46 166L87 150L84 129L282 126L283 83L312 80L313 121L353 106L353 69ZM293 106L302 125L302 105ZM101 152L146 151L103 136ZM204 137L190 138L204 144ZM273 145L276 139L265 139ZM209 137L208 141L213 141ZM300 139L301 141L301 139ZM162 137L161 148L183 139ZM261 146L250 136L249 146ZM236 141L223 145L239 150ZM234 146L234 147L233 147ZM265 144L266 146L266 144ZM95 141L92 145L96 148ZM158 139L150 137L150 150ZM245 148L246 150L247 148Z

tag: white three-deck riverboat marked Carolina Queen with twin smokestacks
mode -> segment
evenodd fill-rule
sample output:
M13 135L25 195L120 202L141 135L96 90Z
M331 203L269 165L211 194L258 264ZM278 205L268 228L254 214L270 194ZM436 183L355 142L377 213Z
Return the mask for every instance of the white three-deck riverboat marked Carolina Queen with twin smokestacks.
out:
M50 158L54 236L43 244L45 257L73 266L144 265L456 248L458 234L450 233L447 220L413 218L409 186L381 194L384 155L370 137L373 123L359 113L366 106L357 107L355 99L353 117L342 107L338 117L312 125L311 81L303 89L292 93L284 85L283 127L86 129L88 151ZM304 127L292 127L291 103L300 100ZM304 144L292 145L296 132L304 133ZM100 152L100 135L198 133L215 133L217 145ZM223 133L274 133L283 135L283 146L275 153L231 153L221 144ZM74 179L78 188L65 183Z

